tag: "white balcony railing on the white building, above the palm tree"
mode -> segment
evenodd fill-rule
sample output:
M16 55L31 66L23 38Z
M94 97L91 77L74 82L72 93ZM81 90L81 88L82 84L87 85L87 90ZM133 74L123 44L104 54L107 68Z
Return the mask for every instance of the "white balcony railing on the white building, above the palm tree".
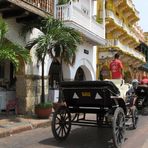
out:
M83 10L68 3L56 7L56 17L65 22L74 23L75 26L79 26L85 32L90 32L95 37L105 38L105 27L96 22L89 10Z

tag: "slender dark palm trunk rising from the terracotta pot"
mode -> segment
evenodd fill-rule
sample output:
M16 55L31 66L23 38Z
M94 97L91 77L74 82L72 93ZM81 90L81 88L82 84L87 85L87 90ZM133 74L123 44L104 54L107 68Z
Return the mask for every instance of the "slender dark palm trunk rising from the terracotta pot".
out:
M44 89L44 59L42 59L42 92L41 92L41 103L45 102L45 89Z

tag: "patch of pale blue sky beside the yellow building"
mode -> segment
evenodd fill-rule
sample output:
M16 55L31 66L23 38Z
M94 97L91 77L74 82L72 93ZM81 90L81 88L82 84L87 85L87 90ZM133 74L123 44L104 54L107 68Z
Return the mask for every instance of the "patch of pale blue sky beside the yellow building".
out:
M136 10L139 11L139 26L144 32L148 32L148 1L147 0L133 0Z

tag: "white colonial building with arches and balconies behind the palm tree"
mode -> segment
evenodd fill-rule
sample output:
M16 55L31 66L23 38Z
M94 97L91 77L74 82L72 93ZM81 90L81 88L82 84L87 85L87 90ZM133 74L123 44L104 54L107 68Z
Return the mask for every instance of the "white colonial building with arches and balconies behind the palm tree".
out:
M100 6L101 19L97 18L97 5ZM24 23L31 25L32 22L51 15L63 20L65 25L75 28L84 36L84 41L77 47L75 65L70 67L63 63L64 80L96 79L96 46L104 46L106 43L104 0L76 0L63 5L59 5L57 0L1 0L0 15L9 26L6 38L23 46L39 34L39 30L34 28L32 32L20 36ZM29 64L22 62L21 68L16 74L13 73L10 62L5 61L1 66L3 67L1 68L3 74L0 75L1 87L16 78L13 97L18 98L20 113L33 112L34 104L38 102L41 94L41 65L37 62L34 49L30 50L30 54L32 62ZM48 99L51 90L55 89L53 88L56 87L55 84L58 84L56 77L59 75L59 63L53 63L52 59L47 57L44 66L45 93L46 99ZM14 79L10 78L12 75L15 75ZM0 99L3 103L1 103L0 110L5 109L6 102L10 99L7 95L9 89L4 90L1 95Z

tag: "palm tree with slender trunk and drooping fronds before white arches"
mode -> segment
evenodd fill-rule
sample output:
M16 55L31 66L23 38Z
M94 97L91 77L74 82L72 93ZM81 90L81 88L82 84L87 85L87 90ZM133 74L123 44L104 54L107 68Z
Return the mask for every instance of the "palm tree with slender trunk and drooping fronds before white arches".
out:
M81 43L82 38L79 32L73 28L64 26L60 20L52 17L44 19L41 22L41 27L38 29L43 34L31 40L27 47L36 46L36 55L42 65L41 103L44 103L44 61L46 55L48 54L53 60L60 62L62 74L62 61L66 64L74 64L77 45ZM62 80L62 75L60 78Z

